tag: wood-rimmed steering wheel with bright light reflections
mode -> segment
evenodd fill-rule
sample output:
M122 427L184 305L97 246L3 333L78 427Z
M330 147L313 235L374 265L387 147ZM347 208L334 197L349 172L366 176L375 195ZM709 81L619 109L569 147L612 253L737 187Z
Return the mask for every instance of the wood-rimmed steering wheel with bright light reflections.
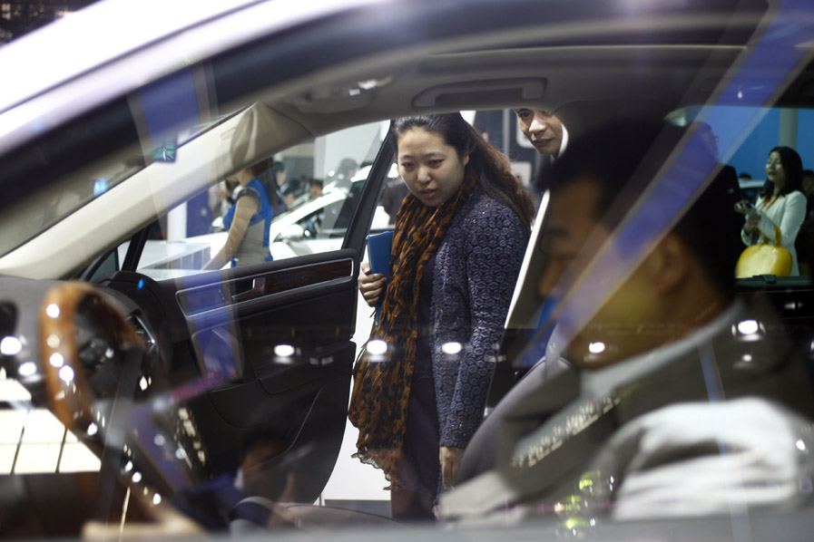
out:
M82 492L97 516L108 516L115 512L114 494L129 494L129 484L118 479L129 402L116 394L124 392L120 381L138 374L144 344L122 312L86 283L54 287L38 320L49 408L102 461L98 481L83 484ZM118 513L121 518L121 508Z

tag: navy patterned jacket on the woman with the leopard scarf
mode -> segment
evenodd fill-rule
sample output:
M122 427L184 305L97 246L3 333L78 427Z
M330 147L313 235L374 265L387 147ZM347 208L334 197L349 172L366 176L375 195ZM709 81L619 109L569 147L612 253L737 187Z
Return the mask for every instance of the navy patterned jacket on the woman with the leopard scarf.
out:
M483 419L525 246L520 218L476 188L438 247L432 356L441 446L466 447Z

